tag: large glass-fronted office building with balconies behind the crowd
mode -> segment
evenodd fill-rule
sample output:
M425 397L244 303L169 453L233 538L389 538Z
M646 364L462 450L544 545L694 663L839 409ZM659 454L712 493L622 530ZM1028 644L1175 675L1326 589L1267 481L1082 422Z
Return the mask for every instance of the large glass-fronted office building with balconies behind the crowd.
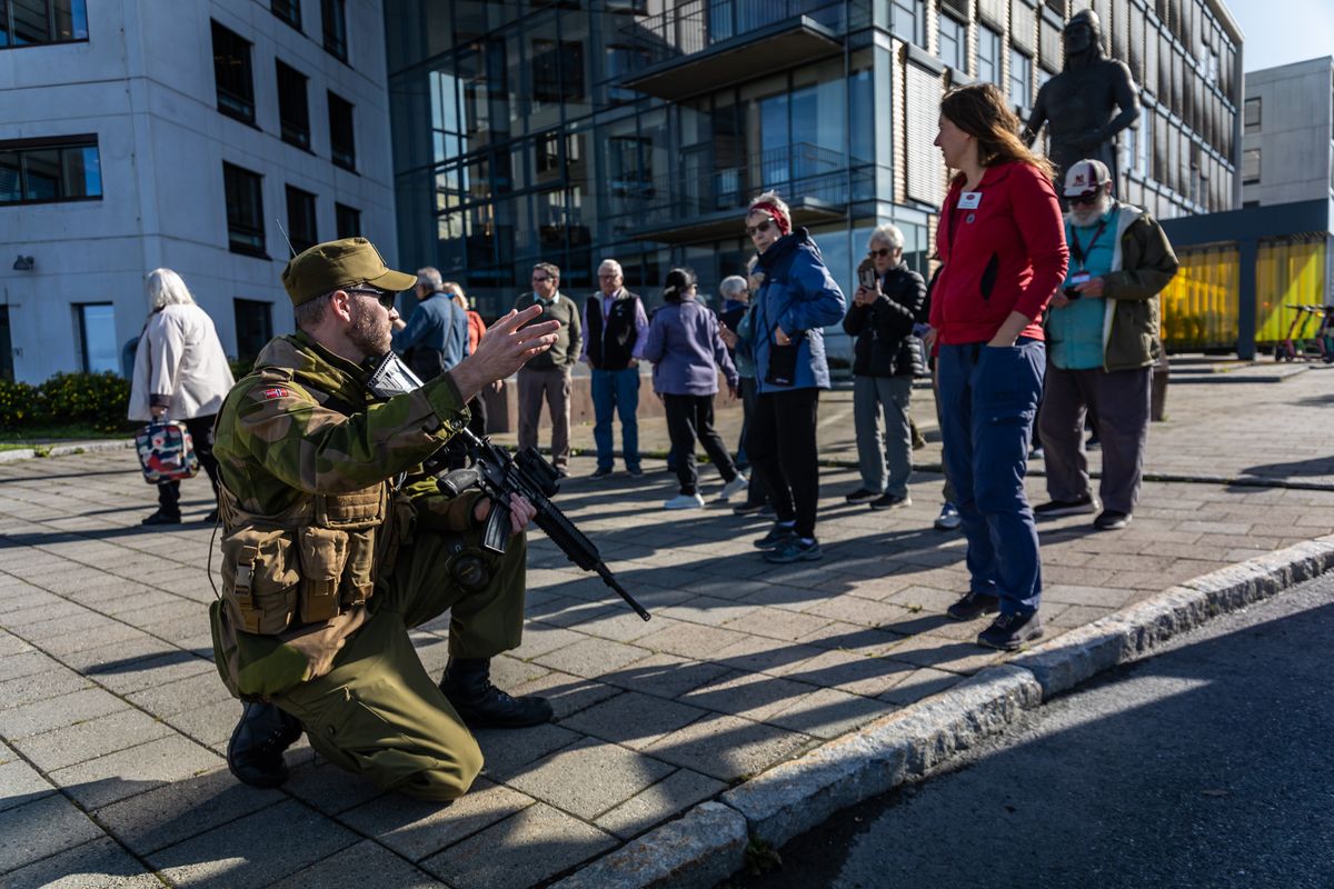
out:
M743 268L778 189L838 279L886 221L927 265L944 89L990 80L1027 116L1087 3L386 0L400 253L508 308L539 260L592 289L615 257L654 296ZM1141 87L1122 195L1162 217L1241 201L1241 32L1219 0L1097 0Z

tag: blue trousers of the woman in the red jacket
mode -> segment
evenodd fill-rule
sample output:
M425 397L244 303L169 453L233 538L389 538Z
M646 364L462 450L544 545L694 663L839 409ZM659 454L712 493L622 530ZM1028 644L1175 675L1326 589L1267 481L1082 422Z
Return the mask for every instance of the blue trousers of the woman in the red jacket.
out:
M1031 614L1042 600L1038 528L1023 493L1033 419L1042 399L1046 345L942 345L940 433L968 540L970 588L1000 597L1002 614Z

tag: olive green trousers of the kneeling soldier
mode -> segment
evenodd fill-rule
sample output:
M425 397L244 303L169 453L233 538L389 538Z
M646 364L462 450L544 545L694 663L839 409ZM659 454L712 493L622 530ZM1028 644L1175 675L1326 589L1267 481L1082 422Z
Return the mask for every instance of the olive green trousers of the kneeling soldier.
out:
M480 534L455 540L475 546ZM482 750L422 666L408 629L451 609L452 657L492 657L518 648L523 632L524 536L510 538L504 556L491 562L491 584L475 593L452 582L450 556L446 536L419 529L334 669L273 698L301 721L320 756L423 800L467 793L482 770Z

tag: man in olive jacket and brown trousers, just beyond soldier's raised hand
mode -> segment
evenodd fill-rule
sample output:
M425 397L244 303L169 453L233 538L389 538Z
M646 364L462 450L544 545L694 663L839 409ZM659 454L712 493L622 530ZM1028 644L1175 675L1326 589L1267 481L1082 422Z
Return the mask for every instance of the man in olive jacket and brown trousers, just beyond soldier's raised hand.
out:
M551 412L551 462L570 472L570 376L583 344L579 308L560 293L560 269L551 263L532 267L532 292L514 303L518 312L540 305L544 321L559 321L555 345L519 371L519 449L538 446L542 403Z

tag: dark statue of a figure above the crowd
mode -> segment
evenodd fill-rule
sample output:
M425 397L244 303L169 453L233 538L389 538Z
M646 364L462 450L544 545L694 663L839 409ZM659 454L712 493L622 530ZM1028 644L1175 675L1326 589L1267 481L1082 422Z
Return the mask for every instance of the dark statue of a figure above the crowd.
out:
M1038 91L1025 141L1037 140L1047 124L1061 183L1075 161L1101 160L1111 171L1113 193L1121 184L1115 137L1139 116L1139 92L1126 63L1102 55L1098 15L1085 9L1062 32L1066 64Z

